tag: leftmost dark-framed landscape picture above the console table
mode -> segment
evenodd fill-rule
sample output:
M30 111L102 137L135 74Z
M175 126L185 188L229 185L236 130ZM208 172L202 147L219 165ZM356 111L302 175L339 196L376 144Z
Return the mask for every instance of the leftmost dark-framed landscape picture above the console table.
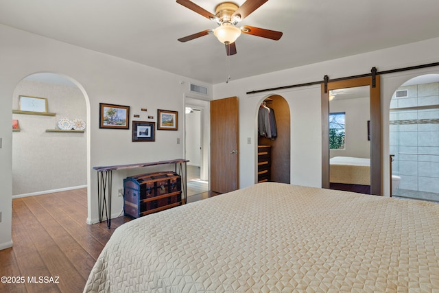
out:
M130 129L130 106L99 103L99 128Z

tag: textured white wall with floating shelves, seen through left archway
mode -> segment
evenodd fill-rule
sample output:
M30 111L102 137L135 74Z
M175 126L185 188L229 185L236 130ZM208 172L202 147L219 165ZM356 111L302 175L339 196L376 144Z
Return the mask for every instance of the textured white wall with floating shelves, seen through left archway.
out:
M34 73L17 84L12 99L12 119L19 125L12 137L13 198L87 187L87 129L59 131L58 126L61 119L69 119L87 127L84 89L58 73ZM33 99L45 103L45 109L20 111L23 101Z

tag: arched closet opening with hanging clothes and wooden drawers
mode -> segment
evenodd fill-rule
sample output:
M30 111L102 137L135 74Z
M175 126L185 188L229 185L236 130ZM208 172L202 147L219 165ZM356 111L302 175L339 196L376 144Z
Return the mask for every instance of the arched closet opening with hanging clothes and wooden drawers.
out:
M257 117L257 182L290 183L291 117L288 102L281 95L265 97ZM274 119L274 125L270 117ZM265 131L263 128L272 129Z

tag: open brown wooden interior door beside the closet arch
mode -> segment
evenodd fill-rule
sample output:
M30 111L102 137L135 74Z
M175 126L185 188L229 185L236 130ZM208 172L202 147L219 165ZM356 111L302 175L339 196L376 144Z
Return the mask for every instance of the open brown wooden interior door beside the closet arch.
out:
M238 98L211 101L211 190L220 194L239 188Z

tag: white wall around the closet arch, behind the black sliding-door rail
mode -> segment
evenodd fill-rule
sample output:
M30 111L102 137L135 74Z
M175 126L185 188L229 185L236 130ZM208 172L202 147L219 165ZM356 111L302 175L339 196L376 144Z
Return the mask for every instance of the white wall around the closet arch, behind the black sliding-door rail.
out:
M255 117L257 107L268 95L282 95L291 109L291 183L311 187L321 187L322 178L322 140L321 140L321 106L320 86L303 86L300 88L269 91L258 94L246 92L270 89L278 86L302 84L323 80L329 75L331 80L346 76L370 73L372 67L378 71L398 69L438 62L437 48L439 38L425 40L390 49L372 51L357 56L276 71L251 78L232 80L213 86L214 99L237 95L239 97L239 185L246 187L254 184L256 170L257 128ZM300 56L298 56L300 58ZM383 123L383 187L384 194L389 191L389 104L394 91L406 80L421 73L438 73L439 67L405 71L381 76L381 115ZM252 144L247 144L248 137Z

